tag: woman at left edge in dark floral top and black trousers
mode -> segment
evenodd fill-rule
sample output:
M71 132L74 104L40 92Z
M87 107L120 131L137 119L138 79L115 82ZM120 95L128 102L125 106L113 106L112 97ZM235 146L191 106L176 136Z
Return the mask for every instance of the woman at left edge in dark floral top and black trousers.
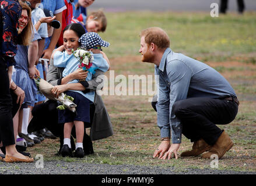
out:
M22 7L18 1L1 1L0 10L0 35L1 37L1 59L0 59L0 141L5 146L5 162L33 162L32 158L22 155L15 148L15 137L13 134L12 121L12 96L10 95L10 81L12 66L15 65L14 56L17 52L17 35L21 33L24 26L19 24L24 19ZM8 70L7 70L8 69Z

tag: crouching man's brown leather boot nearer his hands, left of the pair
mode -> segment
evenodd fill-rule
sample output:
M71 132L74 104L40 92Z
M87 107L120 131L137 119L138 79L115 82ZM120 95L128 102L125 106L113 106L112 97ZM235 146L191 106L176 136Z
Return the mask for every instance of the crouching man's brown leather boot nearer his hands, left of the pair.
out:
M208 145L203 139L195 141L191 151L184 151L181 153L181 156L198 156L205 151L209 151L211 149L211 145Z

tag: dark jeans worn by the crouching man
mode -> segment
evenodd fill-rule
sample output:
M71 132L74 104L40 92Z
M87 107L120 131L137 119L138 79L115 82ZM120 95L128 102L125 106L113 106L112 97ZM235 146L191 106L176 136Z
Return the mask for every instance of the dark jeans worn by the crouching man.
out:
M183 134L191 142L202 138L214 145L223 132L216 124L233 121L238 105L226 99L190 98L175 102L173 112L183 124Z

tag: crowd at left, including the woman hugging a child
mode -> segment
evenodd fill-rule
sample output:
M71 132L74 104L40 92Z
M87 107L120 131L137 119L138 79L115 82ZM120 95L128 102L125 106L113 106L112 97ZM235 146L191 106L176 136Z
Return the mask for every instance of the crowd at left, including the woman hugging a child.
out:
M92 140L113 135L103 100L94 93L103 87L110 62L101 49L109 43L97 34L106 30L106 16L102 10L86 12L93 2L1 1L0 160L33 162L27 147L57 137L57 155L83 158L94 153ZM85 41L79 41L82 36ZM93 53L94 73L79 69L72 55L78 47ZM34 80L38 77L54 85L56 98L62 92L75 98L76 113L58 110L57 101L40 94ZM87 127L92 128L90 136Z

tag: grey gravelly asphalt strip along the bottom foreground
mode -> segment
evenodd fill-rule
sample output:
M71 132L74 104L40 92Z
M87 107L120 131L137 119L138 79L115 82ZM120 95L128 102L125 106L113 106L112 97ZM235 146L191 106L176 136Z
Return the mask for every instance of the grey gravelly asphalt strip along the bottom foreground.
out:
M43 166L42 166L43 165ZM183 169L174 167L137 166L128 164L96 164L83 162L49 161L43 163L0 162L0 174L256 174L249 171L220 169Z

